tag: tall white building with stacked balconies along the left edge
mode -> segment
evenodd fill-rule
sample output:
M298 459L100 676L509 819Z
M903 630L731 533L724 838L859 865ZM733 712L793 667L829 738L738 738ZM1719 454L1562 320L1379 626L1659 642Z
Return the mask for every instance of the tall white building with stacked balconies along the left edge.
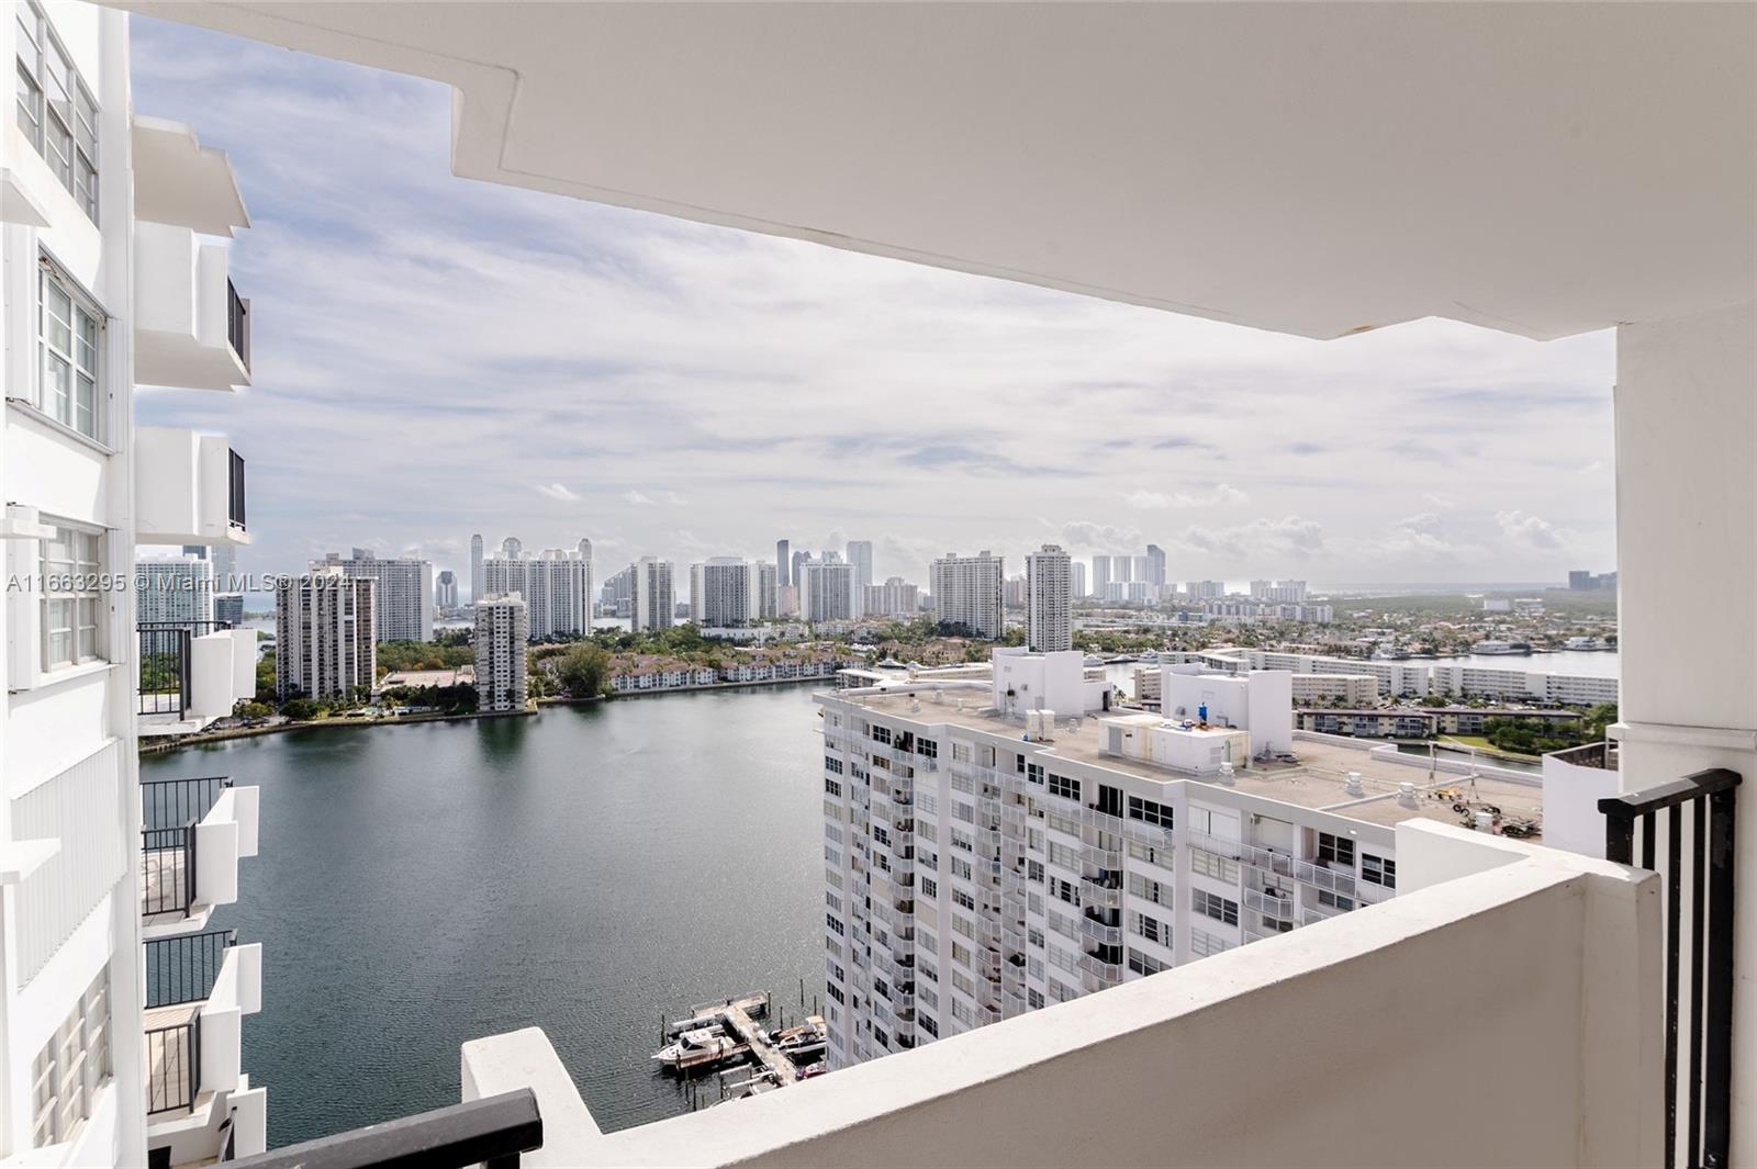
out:
M267 1097L239 1051L262 948L209 923L257 851L258 790L137 769L142 734L200 730L255 690L255 634L197 625L211 560L135 567L141 544L248 542L244 465L223 435L134 418L137 384L183 414L249 384L227 277L249 218L221 151L132 111L127 14L7 16L0 1164L253 1155Z

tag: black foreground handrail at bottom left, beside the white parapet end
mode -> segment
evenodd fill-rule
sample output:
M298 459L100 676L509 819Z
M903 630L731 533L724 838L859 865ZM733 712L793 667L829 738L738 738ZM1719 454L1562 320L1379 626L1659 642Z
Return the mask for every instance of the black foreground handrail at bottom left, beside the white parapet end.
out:
M543 1148L543 1116L531 1088L437 1108L369 1129L288 1144L234 1160L239 1169L515 1169Z

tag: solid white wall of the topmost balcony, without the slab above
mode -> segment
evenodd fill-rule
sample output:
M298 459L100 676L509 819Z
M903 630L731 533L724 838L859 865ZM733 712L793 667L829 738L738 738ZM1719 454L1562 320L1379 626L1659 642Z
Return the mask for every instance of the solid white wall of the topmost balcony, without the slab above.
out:
M134 235L137 383L232 390L249 370L227 339L227 246L139 221Z

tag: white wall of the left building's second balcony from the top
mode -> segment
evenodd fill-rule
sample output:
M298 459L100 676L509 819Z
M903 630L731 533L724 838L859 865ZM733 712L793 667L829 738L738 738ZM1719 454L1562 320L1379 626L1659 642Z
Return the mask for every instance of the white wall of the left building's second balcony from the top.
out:
M232 446L225 435L139 427L135 435L135 541L141 544L248 544L230 521Z

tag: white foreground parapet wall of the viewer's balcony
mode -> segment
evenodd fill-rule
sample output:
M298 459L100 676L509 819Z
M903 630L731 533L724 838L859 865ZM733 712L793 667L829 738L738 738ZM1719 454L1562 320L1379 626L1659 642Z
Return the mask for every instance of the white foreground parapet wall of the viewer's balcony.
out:
M538 1094L531 1165L1659 1164L1657 878L1411 825L1435 885L731 1108L601 1134L539 1030L464 1097Z

